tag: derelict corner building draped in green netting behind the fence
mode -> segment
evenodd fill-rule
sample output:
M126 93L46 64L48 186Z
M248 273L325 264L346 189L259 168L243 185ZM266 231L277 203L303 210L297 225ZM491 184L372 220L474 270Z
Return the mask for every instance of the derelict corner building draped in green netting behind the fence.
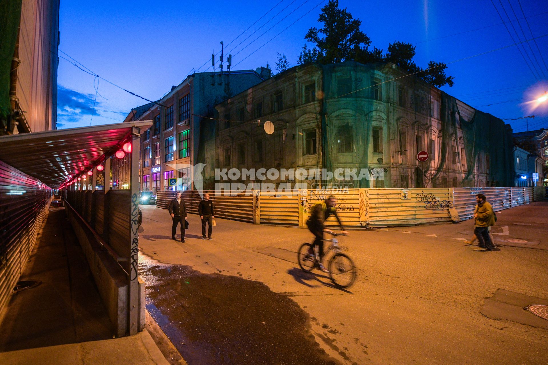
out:
M215 138L204 145L213 165L207 171L380 169L384 178L343 183L377 188L512 186L510 126L406 75L390 63L352 61L305 64L279 73L215 107ZM271 121L273 134L266 134L259 120ZM425 162L416 158L421 151L429 153ZM206 179L211 188L212 173ZM304 182L309 187L325 183Z

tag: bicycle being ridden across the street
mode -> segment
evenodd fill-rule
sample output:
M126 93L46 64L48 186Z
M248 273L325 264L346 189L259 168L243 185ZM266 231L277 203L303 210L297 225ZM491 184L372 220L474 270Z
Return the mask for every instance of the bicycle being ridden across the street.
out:
M299 247L297 252L297 261L302 271L310 272L315 268L321 260L325 260L328 257L329 252L333 252L333 256L329 259L327 270L329 271L329 279L338 288L347 288L351 286L357 277L357 268L354 262L346 254L341 251L348 250L347 247L339 246L339 240L337 236L344 235L343 233L326 232L333 236L332 239L323 239L324 242L329 242L326 253L323 258L318 258L318 253L314 250L315 254L312 255L312 245L304 243Z

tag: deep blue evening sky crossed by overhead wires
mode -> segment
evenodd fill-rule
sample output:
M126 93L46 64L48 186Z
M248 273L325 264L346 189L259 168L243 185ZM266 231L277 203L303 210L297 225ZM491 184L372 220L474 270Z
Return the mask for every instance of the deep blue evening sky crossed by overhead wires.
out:
M493 2L506 21L505 11L511 19L516 19L513 11L517 18L523 18L517 0ZM221 40L225 44L225 57L229 53L233 55L233 69L255 69L267 63L275 68L277 53L286 54L290 66L295 66L305 44L304 36L310 27L319 27L318 14L326 3L327 0L61 0L59 55L69 60L73 57L92 73L147 99L157 100L172 85L185 79L193 68L210 71L207 67L211 65L211 54L220 51ZM443 3L341 0L339 7L346 7L354 18L362 21L361 30L371 38L371 47L386 50L395 40L415 44L414 61L421 67L426 67L430 60L456 61L514 43L490 0ZM525 20L512 23L519 38L532 38L529 26L534 37L548 34L548 2L521 0L521 7L528 24ZM244 32L269 10L270 13ZM305 15L307 11L310 12ZM506 26L517 42L511 24ZM254 31L256 33L237 46ZM242 32L242 36L231 43ZM499 118L535 114L535 119L529 119L529 129L548 128L548 102L540 106L527 102L548 91L548 36L536 39L536 45L529 42L530 48L524 45L526 52L522 49L522 53L532 71L513 46L450 63L448 74L455 77L455 85L444 86L442 90ZM200 68L204 63L206 65ZM63 59L59 61L58 84L58 128L117 123L129 109L147 103ZM96 112L92 120L94 100ZM506 122L511 123L515 131L526 130L526 119Z

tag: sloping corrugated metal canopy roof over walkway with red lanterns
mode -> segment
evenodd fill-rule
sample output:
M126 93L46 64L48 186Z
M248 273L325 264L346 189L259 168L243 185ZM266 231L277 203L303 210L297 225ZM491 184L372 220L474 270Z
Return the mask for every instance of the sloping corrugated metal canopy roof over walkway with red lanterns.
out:
M0 160L58 188L68 175L76 176L98 164L132 132L151 120L52 130L0 137Z

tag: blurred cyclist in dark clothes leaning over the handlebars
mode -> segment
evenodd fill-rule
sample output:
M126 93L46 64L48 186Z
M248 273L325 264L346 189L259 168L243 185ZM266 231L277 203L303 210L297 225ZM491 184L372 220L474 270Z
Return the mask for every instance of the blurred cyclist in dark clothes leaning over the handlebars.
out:
M316 260L318 262L319 269L324 271L324 273L327 273L328 270L324 268L322 264L322 256L323 256L323 233L334 233L332 230L327 229L325 227L325 221L327 218L329 218L331 215L334 215L337 219L337 222L339 222L339 225L341 227L341 230L343 230L342 234L348 234L343 227L343 223L341 223L341 220L339 218L339 215L337 214L337 199L334 196L329 196L324 201L316 203L310 212L310 218L308 221L306 221L306 226L311 231L311 233L314 235L315 239L311 247L311 251L309 251L310 258L315 257L314 247L318 247L318 257L316 257Z

